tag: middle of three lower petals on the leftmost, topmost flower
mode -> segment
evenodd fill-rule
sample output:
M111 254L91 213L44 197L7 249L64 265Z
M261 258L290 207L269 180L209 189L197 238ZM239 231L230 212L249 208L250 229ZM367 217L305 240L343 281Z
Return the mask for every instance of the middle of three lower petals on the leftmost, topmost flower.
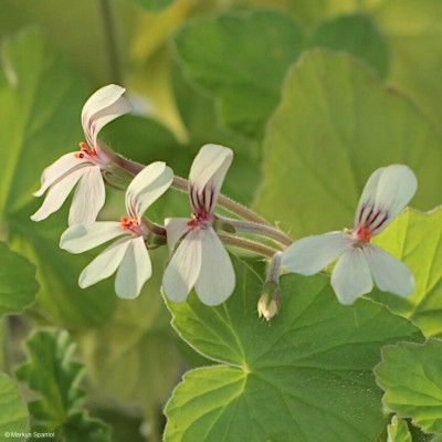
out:
M86 172L88 167L82 167L75 169L71 173L66 175L63 179L55 182L49 189L46 197L44 198L41 208L31 217L32 221L41 221L48 218L51 213L56 212L66 200L71 190L80 180L80 178Z

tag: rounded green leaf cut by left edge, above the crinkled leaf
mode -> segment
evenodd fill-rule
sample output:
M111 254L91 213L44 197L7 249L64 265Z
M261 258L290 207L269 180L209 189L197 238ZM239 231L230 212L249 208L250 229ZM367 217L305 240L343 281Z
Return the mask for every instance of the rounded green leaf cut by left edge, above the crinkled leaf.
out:
M21 313L35 301L35 266L0 242L0 317Z

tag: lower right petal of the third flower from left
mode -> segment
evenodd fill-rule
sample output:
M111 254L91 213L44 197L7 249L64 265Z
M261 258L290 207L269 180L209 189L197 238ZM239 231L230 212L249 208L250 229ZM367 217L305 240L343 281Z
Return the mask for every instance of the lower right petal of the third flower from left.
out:
M209 228L201 233L201 272L194 290L206 305L219 305L233 293L235 274L229 253L214 230Z

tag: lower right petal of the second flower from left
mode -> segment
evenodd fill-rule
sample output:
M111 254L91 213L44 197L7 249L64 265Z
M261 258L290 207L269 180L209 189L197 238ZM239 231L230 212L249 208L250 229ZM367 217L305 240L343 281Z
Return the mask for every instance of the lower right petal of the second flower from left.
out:
M119 297L134 299L151 275L149 253L141 236L129 241L129 246L115 278L115 292Z

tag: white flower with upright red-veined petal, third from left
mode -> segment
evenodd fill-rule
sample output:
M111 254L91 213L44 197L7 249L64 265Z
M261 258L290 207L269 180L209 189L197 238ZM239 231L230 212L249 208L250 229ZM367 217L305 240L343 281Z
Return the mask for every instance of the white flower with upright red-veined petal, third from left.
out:
M185 301L192 287L207 305L221 304L233 292L233 266L213 229L218 196L232 159L227 147L203 146L189 176L192 218L166 220L170 252L181 240L162 278L164 292L173 302Z

